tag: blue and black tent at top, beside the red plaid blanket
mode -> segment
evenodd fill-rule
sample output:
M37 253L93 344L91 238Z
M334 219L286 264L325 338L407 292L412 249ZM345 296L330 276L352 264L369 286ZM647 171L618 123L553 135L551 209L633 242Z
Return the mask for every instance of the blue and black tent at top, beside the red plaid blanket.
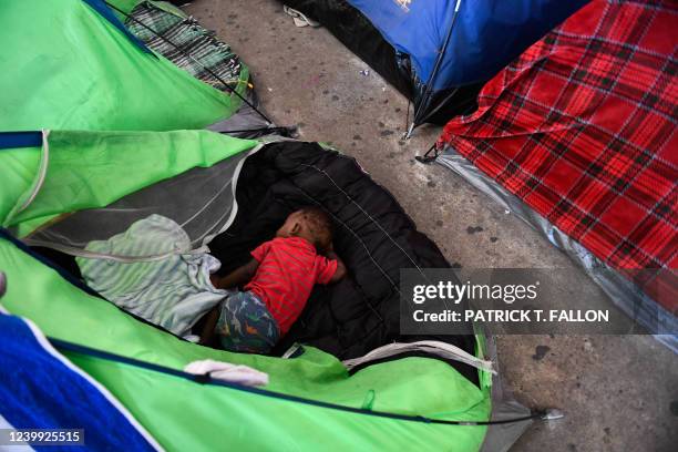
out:
M284 0L414 101L414 125L474 109L482 84L586 0Z

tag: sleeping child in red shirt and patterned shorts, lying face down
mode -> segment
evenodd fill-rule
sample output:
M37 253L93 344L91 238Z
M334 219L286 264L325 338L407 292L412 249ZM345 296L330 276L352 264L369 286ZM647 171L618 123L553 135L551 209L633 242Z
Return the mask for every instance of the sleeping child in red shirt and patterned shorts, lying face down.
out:
M244 287L205 316L201 343L210 343L216 335L226 350L266 353L297 320L314 285L346 275L333 251L331 223L316 207L290 214L276 237L251 257L229 275L212 276L217 289Z

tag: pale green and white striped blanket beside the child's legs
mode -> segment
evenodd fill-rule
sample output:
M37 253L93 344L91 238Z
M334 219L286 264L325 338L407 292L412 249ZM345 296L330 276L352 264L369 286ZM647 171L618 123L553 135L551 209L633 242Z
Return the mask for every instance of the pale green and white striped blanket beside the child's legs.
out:
M188 235L161 215L140 219L107 240L91 242L85 250L100 256L75 259L91 288L177 336L187 337L191 327L229 294L209 281L219 260L191 250Z

